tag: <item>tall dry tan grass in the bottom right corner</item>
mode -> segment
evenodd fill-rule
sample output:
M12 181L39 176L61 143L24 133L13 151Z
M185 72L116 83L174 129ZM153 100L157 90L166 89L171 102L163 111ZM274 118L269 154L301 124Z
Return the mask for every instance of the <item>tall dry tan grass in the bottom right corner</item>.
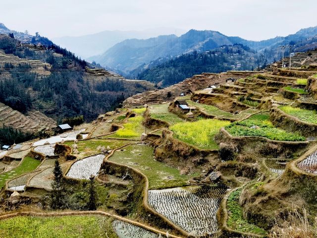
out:
M269 238L317 238L317 217L314 225L309 223L309 215L303 209L303 214L297 210L289 212L285 220L276 221Z

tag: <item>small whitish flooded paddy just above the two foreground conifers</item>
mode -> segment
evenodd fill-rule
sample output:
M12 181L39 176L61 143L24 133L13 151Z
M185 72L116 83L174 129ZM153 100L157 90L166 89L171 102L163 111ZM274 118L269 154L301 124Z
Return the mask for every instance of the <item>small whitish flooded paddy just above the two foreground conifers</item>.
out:
M104 158L104 155L95 155L79 160L70 167L67 176L74 179L89 179L92 175L97 176Z

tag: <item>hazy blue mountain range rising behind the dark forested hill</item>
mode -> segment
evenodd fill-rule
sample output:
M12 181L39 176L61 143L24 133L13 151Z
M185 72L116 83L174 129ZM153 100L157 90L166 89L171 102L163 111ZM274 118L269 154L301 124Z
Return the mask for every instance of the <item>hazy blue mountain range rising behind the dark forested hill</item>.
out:
M222 45L243 44L258 53L263 53L268 61L279 57L279 45L298 44L317 35L317 27L301 29L286 37L275 37L264 41L248 41L240 37L229 37L217 31L190 30L184 35L159 36L147 40L129 39L116 44L104 54L89 58L102 66L125 76L136 76L135 69L146 70L151 62L164 62L182 54L198 53L219 48ZM276 59L277 60L277 59ZM133 72L133 75L131 75Z

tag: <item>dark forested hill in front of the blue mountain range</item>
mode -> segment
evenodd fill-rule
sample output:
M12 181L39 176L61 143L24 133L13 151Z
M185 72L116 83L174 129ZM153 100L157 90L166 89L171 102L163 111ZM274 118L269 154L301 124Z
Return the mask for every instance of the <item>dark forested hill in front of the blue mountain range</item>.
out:
M166 87L203 72L265 68L267 60L249 47L240 44L222 46L203 53L184 54L166 62L153 61L130 72L132 78L148 80ZM157 66L156 66L157 65Z

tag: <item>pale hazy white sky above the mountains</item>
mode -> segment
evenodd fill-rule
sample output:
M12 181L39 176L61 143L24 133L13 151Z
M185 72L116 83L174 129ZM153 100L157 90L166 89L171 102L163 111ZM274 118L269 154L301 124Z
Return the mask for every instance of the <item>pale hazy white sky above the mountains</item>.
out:
M317 0L6 0L0 22L49 38L173 27L264 40L317 25Z

